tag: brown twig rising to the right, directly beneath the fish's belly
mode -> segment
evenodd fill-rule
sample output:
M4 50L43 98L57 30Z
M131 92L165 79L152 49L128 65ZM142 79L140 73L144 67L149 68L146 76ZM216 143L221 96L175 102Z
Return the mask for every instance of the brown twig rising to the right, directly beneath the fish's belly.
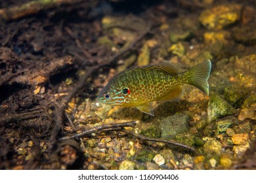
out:
M96 127L90 127L88 129L85 129L85 131L83 131L81 133L76 133L74 135L61 137L58 140L63 141L63 140L66 140L66 139L85 137L87 135L91 135L92 133L97 133L97 132L100 132L100 131L114 131L114 130L116 131L117 129L119 129L119 130L123 129L123 127L135 127L135 125L137 125L136 121L125 122L125 123L117 123L117 124L98 125Z

